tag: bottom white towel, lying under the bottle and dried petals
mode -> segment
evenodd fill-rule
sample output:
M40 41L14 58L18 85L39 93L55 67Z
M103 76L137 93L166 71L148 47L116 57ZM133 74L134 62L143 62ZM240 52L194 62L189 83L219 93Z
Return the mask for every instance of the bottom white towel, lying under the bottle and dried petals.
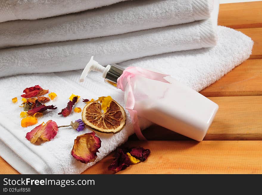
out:
M159 69L199 91L221 78L251 54L253 42L241 32L219 26L218 35L218 44L213 48L144 57L120 65ZM124 105L122 91L106 85L101 74L92 72L84 83L78 82L80 75L81 71L68 71L0 78L0 99L2 103L0 110L0 118L2 119L0 121L0 155L20 173L81 173L127 141L128 136L134 133L129 116L127 116L127 124L121 132L115 135L96 133L101 139L102 145L96 161L88 164L75 160L71 156L71 149L77 135L90 132L90 130L77 132L70 128L60 128L57 136L52 141L42 143L39 146L33 145L26 140L26 132L29 132L35 126L27 128L20 126L21 118L19 113L21 108L18 107L19 103L13 104L11 101L11 98L19 97L26 87L39 84L58 95L54 102L58 109L44 114L42 118L38 119L39 124L42 121L46 122L52 119L58 125L65 125L69 124L71 120L79 119L81 113L72 113L66 118L57 115L61 108L67 104L71 93L79 95L81 98L97 98L98 96L110 95L121 105ZM18 102L20 101L21 99ZM76 106L83 107L84 104L78 102ZM149 123L140 121L140 125L143 129ZM105 167L106 169L107 167Z

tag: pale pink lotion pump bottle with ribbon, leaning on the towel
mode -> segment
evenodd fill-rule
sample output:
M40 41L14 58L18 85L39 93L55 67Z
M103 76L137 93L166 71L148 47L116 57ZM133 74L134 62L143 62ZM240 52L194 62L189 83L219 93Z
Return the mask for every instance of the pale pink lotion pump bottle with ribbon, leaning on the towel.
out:
M93 56L86 65L80 82L91 71L99 71L105 81L125 93L126 109L138 138L145 139L137 116L197 141L205 137L218 105L174 78L157 71L113 64L103 67Z

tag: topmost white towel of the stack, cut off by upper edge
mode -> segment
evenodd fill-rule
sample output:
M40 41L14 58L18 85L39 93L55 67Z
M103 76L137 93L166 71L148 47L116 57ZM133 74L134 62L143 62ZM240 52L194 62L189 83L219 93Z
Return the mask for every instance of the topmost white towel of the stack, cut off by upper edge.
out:
M1 0L0 22L80 12L126 0Z

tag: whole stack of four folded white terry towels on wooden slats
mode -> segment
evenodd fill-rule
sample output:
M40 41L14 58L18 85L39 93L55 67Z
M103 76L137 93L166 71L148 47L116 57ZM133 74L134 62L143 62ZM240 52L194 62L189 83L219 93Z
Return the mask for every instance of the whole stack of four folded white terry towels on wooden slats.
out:
M5 120L0 122L0 155L19 172L81 173L93 165L70 155L74 138L83 132L59 131L40 146L26 140L32 127L20 126L19 107L10 103L10 97L21 95L24 88L39 84L55 91L58 109L71 93L94 99L111 95L124 105L121 91L109 88L98 74L79 84L81 71L71 70L83 69L94 55L104 65L158 69L200 91L251 54L249 37L217 26L218 0L120 1L1 1L0 117ZM64 125L78 118L75 113L61 118L52 111L41 120ZM146 128L149 122L141 119L140 125ZM132 133L128 117L120 133L99 134L102 146L96 162Z

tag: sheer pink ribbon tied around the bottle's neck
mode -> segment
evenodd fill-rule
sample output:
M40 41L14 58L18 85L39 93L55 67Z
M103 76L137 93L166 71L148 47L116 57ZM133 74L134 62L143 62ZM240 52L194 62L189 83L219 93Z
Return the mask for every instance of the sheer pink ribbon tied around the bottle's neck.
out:
M146 138L142 134L141 129L139 127L137 111L133 110L135 106L135 97L132 91L132 82L130 78L135 77L135 76L142 76L148 79L169 83L166 79L164 79L164 77L169 76L169 75L149 71L149 70L146 70L144 68L139 68L139 67L128 67L123 71L123 74L117 79L116 87L118 89L125 91L126 84L128 83L129 85L126 109L128 110L130 114L133 128L134 128L135 134L137 135L138 139L146 140Z

